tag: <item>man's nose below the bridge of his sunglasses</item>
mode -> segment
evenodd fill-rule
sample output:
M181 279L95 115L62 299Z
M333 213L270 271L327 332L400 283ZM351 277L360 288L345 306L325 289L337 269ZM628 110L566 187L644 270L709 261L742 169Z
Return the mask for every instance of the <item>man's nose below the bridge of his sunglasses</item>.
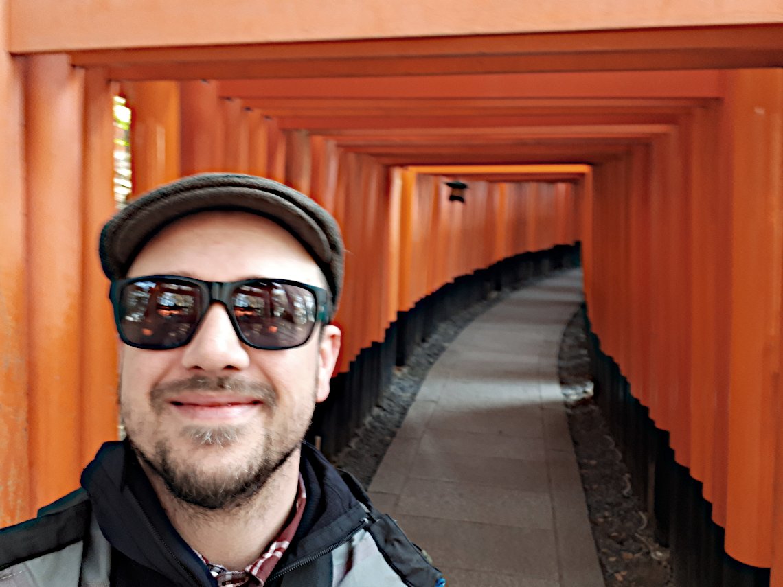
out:
M185 347L182 364L186 369L209 373L241 371L250 366L247 348L236 336L226 306L212 304L196 334Z

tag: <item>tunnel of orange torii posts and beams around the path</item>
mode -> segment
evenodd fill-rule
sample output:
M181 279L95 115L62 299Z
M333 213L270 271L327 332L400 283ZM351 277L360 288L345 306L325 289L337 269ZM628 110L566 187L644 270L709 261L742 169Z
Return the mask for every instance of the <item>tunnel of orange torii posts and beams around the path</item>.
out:
M581 243L601 352L781 587L781 5L525 5L0 3L0 522L117 438L96 237L121 95L134 195L238 171L334 213L337 373L460 275Z

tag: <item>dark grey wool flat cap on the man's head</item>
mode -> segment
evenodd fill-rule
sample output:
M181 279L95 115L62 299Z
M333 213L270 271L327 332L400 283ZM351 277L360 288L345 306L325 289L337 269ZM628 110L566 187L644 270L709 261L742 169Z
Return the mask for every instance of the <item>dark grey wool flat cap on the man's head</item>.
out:
M206 211L250 212L269 218L290 232L327 278L332 296L329 317L334 317L345 260L337 221L303 193L254 175L191 175L133 200L103 225L98 248L106 277L123 278L136 255L164 227L189 214Z

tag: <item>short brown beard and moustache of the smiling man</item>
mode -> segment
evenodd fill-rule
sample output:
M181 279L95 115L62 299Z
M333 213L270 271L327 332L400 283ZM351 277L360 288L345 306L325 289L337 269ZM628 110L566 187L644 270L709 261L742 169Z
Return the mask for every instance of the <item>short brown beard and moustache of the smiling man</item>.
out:
M276 409L276 390L266 384L219 377L191 377L155 387L150 392L153 412L160 415L169 397L179 391L236 391L240 394L262 400L262 409L268 409L274 416ZM315 396L315 392L313 394ZM309 412L294 414L293 420L283 423L281 430L258 430L254 424L244 426L188 426L181 430L180 438L204 447L220 450L230 445L252 442L249 456L242 463L226 464L217 472L206 472L195 456L177 458L174 443L159 438L153 443L151 451L145 451L134 440L134 430L128 429L129 414L123 414L126 422L128 441L139 460L160 477L172 497L183 504L195 506L200 510L233 510L249 502L254 495L267 484L269 479L290 459L305 437L315 397ZM301 409L301 408L300 408ZM270 426L274 418L269 418ZM254 434L254 440L246 438ZM258 433L262 433L258 439ZM181 443L179 443L181 444ZM180 446L180 453L182 453Z

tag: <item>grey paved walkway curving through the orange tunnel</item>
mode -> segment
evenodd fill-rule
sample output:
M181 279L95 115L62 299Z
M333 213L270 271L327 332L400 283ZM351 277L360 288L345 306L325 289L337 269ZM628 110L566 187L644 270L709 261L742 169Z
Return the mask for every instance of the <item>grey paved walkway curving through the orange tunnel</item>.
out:
M527 286L467 326L370 484L449 587L604 587L557 380L581 279Z

